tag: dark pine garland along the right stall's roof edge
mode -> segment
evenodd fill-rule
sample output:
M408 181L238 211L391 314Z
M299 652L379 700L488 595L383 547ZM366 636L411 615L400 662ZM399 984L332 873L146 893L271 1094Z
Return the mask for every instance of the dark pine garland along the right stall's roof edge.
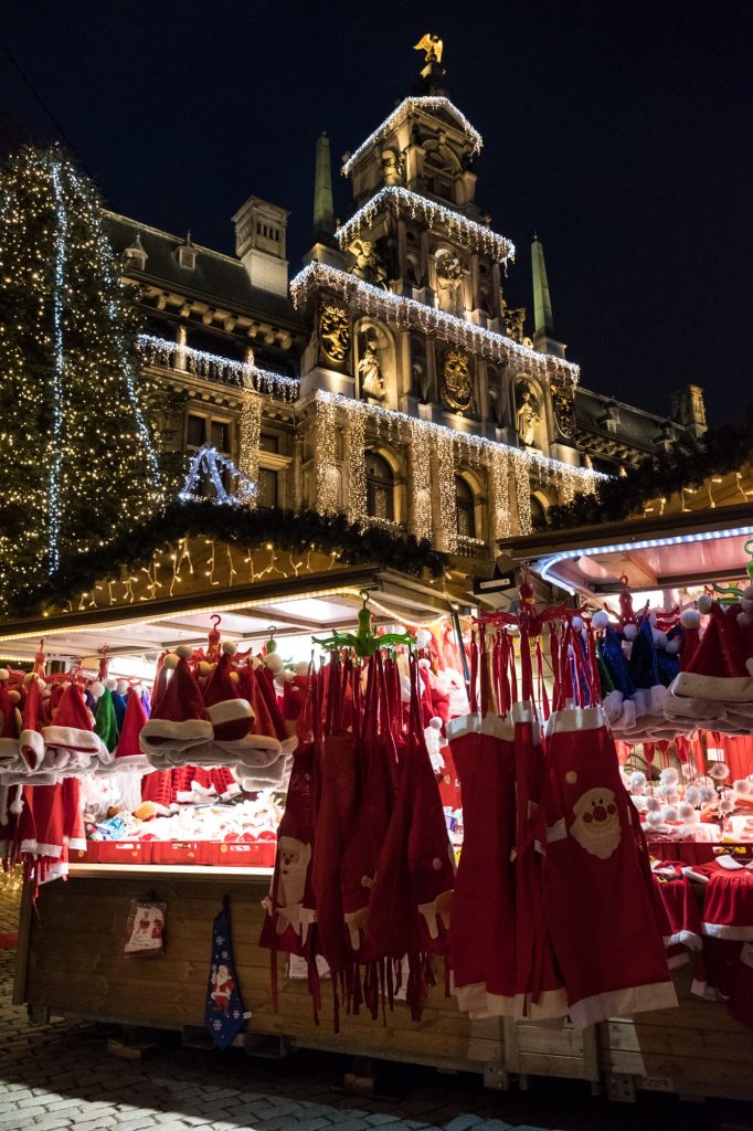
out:
M598 495L577 495L571 503L551 507L543 525L561 530L574 526L618 523L641 515L656 499L703 486L715 475L729 475L753 463L753 409L741 429L709 430L701 441L683 437L670 452L651 456L624 478L599 484Z

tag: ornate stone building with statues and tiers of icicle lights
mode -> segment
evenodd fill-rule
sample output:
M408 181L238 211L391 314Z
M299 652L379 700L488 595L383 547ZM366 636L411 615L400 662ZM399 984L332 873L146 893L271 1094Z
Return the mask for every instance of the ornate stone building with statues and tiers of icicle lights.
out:
M583 389L554 337L538 240L527 336L505 297L514 249L475 204L482 139L439 54L347 156L339 227L319 139L313 244L289 290L287 213L257 197L233 217L235 257L109 223L140 288L168 444L233 460L256 506L345 511L482 566L553 501L702 432L703 398L691 386L660 417Z

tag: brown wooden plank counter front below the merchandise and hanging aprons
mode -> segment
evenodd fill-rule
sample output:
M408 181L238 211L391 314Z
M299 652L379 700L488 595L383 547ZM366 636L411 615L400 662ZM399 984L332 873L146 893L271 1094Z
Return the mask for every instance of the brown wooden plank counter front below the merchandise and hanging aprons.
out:
M598 1081L680 1094L753 1099L753 1041L722 1004L690 993L690 967L675 972L680 1009L614 1020L577 1034L569 1027L471 1021L443 986L432 990L423 1019L407 1008L343 1015L332 1027L329 985L322 983L320 1025L304 981L287 976L278 957L279 1012L272 1010L269 951L257 946L269 869L73 864L67 883L40 890L36 909L25 896L18 943L17 1003L35 1019L69 1018L184 1029L204 1026L211 923L230 897L237 978L254 1035L286 1037L292 1046L398 1060L482 1073L504 1087L510 1073ZM163 958L123 955L131 899L155 895L167 904ZM443 982L438 969L440 983Z

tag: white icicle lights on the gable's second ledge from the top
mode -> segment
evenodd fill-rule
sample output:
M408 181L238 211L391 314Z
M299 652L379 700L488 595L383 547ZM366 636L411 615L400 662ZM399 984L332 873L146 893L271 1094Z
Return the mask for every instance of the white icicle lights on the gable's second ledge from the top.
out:
M388 184L360 208L355 216L337 230L335 236L344 250L348 248L365 227L370 227L381 211L391 211L396 217L418 219L430 227L441 225L447 233L470 251L481 251L497 262L507 262L516 257L514 244L503 235L497 235L483 224L468 219L461 213L447 208L429 197L408 189Z

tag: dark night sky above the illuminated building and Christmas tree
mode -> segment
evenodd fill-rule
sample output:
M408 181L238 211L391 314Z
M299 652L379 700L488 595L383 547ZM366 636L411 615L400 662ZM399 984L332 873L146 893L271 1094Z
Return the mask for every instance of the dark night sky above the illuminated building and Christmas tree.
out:
M659 413L702 385L712 421L751 391L750 0L8 5L0 31L107 205L232 251L256 193L309 245L315 139L339 156L444 41L451 97L484 138L477 200L518 260L544 243L557 336L582 383ZM59 135L0 53L0 144ZM530 322L528 329L530 330Z

